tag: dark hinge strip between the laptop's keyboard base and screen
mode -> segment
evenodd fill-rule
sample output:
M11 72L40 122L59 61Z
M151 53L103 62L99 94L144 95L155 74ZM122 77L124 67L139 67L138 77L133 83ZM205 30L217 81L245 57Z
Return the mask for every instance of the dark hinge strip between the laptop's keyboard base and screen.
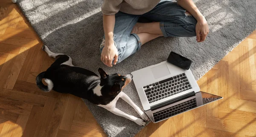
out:
M163 102L163 103L161 103L161 104L158 104L158 105L155 105L155 106L151 106L150 109L151 109L151 111L154 111L154 110L157 110L157 109L159 109L159 108L163 108L163 107L165 107L165 106L168 106L168 105L170 105L170 104L179 102L180 100L184 100L184 99L186 99L186 98L193 97L193 96L195 96L195 91L190 92L190 93L188 93L188 94L184 94L184 95L182 95L182 96L180 96L180 97L176 97L176 98L174 98L174 99L172 99L172 100L168 100L168 101Z

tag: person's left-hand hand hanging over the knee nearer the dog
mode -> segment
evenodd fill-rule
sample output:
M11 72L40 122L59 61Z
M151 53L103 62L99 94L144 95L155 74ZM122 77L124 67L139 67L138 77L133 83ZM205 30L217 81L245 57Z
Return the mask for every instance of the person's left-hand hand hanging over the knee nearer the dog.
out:
M106 40L105 46L102 49L101 60L105 65L112 67L113 59L115 59L113 64L116 65L118 61L118 51L113 40Z

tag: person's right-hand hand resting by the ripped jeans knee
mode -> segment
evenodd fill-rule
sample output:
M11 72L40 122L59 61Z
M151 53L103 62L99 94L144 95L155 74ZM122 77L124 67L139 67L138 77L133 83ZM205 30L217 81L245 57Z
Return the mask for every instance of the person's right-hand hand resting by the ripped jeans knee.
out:
M207 34L209 33L208 24L204 16L198 19L198 22L196 23L196 26L195 26L195 32L196 32L196 41L203 42Z

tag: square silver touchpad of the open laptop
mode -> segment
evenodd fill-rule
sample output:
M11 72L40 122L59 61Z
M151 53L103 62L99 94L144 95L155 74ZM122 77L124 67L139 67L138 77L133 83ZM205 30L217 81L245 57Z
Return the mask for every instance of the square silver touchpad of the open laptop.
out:
M162 65L156 66L154 68L151 68L151 71L152 71L155 79L158 79L160 77L164 77L164 76L167 76L170 74L170 71L166 64L162 64Z

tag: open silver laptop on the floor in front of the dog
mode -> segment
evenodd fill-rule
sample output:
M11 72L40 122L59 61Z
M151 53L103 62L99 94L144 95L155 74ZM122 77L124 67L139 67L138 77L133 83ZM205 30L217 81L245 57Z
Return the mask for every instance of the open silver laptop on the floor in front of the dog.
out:
M200 91L190 69L167 61L131 74L143 109L153 123L222 98Z

